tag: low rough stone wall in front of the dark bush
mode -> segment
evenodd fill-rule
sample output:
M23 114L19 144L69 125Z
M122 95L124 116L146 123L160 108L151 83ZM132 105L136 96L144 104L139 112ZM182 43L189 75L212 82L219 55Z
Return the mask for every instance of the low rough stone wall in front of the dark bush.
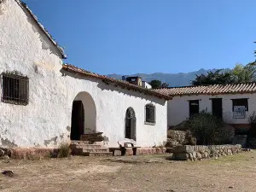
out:
M201 160L241 153L241 145L183 145L173 148L174 160Z

